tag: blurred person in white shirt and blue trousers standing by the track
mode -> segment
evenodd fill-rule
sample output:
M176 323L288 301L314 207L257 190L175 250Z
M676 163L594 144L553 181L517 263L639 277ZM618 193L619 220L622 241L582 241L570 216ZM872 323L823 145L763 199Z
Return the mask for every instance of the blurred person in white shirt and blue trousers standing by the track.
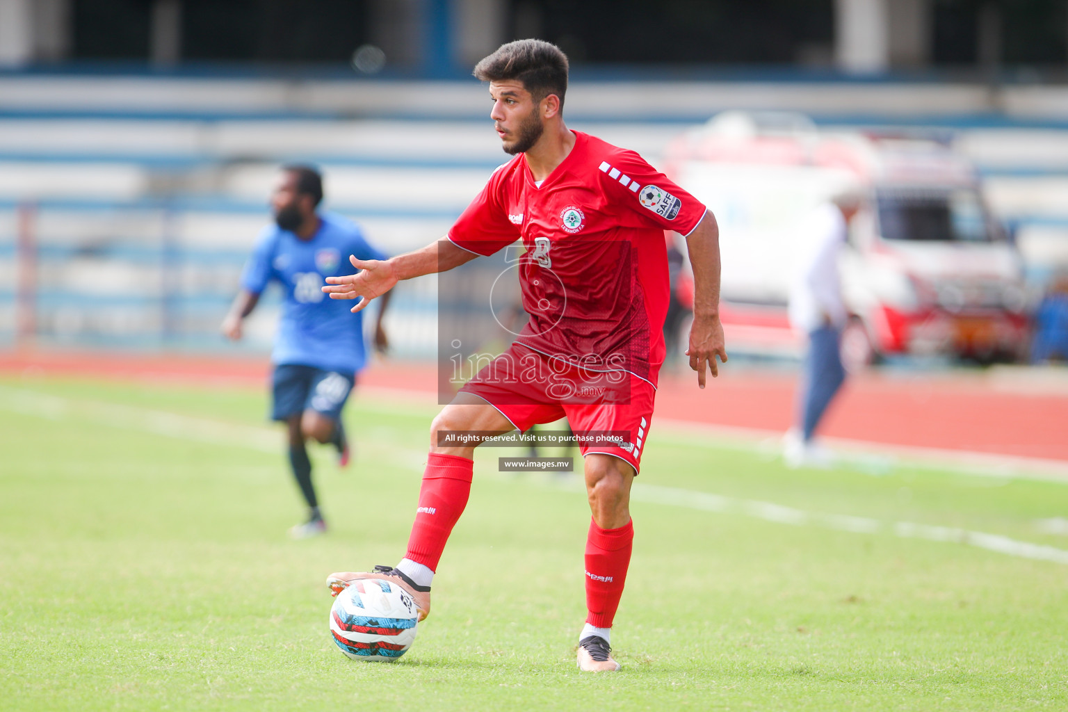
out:
M786 464L828 466L830 455L814 442L827 407L846 380L838 346L849 312L842 300L838 253L849 222L861 205L853 188L838 191L818 205L798 233L797 264L790 285L790 326L805 336L805 355L798 384L795 427L786 433Z

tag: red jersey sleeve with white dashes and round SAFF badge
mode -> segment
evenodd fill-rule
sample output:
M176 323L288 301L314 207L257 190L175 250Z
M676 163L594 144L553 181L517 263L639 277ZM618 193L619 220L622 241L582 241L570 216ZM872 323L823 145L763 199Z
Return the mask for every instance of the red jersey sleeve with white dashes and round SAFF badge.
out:
M708 209L632 151L601 161L599 171L606 200L648 226L689 235Z

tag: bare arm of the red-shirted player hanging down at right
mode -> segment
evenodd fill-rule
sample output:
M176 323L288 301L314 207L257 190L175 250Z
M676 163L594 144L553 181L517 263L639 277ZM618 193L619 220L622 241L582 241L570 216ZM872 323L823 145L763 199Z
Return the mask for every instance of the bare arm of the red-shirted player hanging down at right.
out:
M686 354L697 371L697 385L705 387L705 364L714 378L720 373L716 357L727 360L720 323L720 227L711 210L686 236L686 247L693 267L693 325Z

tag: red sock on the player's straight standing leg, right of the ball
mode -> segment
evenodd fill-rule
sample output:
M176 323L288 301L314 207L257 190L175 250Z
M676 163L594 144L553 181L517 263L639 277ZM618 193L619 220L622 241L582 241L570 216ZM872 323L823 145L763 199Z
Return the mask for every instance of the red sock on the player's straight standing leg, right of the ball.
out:
M617 529L602 529L590 520L586 535L586 622L596 628L612 628L619 607L623 584L627 580L634 523Z

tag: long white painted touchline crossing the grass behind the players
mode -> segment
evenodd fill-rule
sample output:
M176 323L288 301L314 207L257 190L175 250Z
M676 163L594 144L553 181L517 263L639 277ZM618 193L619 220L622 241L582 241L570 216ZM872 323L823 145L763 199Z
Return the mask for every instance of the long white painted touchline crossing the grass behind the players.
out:
M374 409L374 404L364 404L364 406L368 409ZM387 408L393 410L395 406L389 405ZM0 386L0 409L23 415L44 417L50 421L88 420L96 424L115 428L150 432L179 440L191 440L226 447L244 446L266 453L278 453L281 449L279 444L280 434L269 428L210 421L136 406L123 406L97 400L76 400L25 389ZM687 440L686 442L692 444L691 440ZM402 448L393 447L392 449L396 452ZM406 456L414 454L413 450L404 453ZM420 459L424 457L422 453L418 455ZM410 458L406 457L405 460L410 460ZM411 462L406 461L405 464L410 465ZM559 482L559 480L556 481ZM576 487L581 489L581 485L577 481L572 482L568 489L576 489ZM1031 541L1020 541L998 534L988 534L986 532L972 532L957 527L932 526L914 522L886 523L867 517L812 512L772 502L741 500L712 494L710 492L646 485L644 482L634 482L631 489L631 499L638 502L684 507L700 511L743 515L776 524L822 526L854 534L888 533L901 538L963 543L1009 556L1068 565L1068 551Z

